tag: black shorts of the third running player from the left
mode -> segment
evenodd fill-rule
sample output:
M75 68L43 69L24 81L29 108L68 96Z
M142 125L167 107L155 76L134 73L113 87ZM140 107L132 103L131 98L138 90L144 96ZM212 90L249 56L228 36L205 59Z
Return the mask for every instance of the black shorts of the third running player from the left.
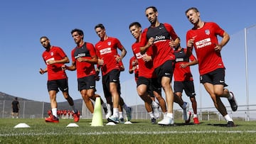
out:
M120 71L119 70L112 70L109 73L105 74L102 76L102 87L103 87L103 92L105 97L111 96L110 93L110 82L115 82L117 83L117 92L121 95L121 87L120 87L120 82L119 82L119 75Z

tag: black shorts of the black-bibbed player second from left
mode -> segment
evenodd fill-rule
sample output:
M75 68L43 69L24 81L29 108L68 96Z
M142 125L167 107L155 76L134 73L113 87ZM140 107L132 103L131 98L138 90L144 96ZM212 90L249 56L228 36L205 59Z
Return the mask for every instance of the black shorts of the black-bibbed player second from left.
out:
M82 89L95 89L95 75L78 79L78 91L82 91Z

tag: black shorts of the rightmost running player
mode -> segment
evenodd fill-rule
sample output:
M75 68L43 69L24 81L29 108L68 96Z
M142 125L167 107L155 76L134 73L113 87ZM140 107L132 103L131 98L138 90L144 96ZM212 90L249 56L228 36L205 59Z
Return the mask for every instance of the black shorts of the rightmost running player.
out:
M213 72L209 72L207 74L201 75L200 82L202 84L208 82L213 85L223 84L224 87L228 86L227 84L225 84L225 69L224 68L216 69Z

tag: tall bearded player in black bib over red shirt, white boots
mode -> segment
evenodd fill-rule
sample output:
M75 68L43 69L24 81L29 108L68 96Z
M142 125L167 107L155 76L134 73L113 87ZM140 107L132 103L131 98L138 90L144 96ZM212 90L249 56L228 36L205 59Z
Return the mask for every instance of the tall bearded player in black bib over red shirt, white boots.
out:
M169 23L160 23L158 20L158 11L156 7L149 6L145 11L146 18L151 23L142 33L142 44L140 50L142 54L150 47L153 49L153 65L156 77L164 89L167 103L167 115L159 125L174 124L174 92L171 88L171 79L173 76L174 49L178 45L178 35Z

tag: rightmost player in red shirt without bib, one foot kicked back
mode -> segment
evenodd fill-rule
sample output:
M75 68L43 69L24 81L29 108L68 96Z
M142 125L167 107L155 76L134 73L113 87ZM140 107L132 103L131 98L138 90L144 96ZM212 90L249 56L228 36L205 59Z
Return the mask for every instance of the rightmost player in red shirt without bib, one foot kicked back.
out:
M195 48L201 83L213 99L215 108L228 122L227 126L234 127L233 119L228 115L220 99L220 97L228 98L232 110L238 109L234 94L224 88L228 85L225 84L225 67L220 55L230 36L217 23L201 21L201 13L198 9L192 7L185 13L188 21L193 24L193 28L186 33L188 55ZM222 37L220 43L217 35Z

